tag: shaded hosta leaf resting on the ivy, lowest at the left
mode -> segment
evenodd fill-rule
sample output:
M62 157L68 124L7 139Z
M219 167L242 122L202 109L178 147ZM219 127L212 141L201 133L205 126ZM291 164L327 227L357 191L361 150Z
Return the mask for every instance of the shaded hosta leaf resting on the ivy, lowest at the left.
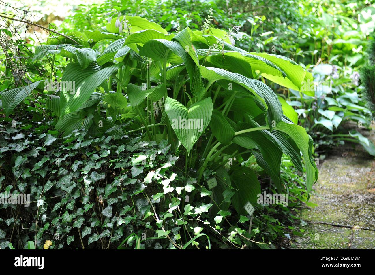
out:
M73 130L89 129L93 123L94 115L84 110L77 110L58 120L55 128L64 134L70 134Z

